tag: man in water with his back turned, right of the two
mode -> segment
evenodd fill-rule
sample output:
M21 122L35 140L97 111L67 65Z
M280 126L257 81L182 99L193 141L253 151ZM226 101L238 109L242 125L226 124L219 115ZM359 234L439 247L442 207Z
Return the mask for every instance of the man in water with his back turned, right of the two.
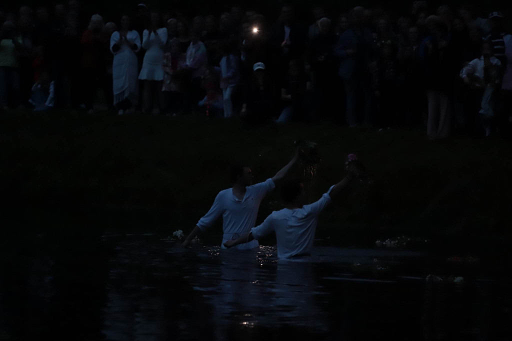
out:
M253 227L237 240L224 242L227 248L245 245L253 240L275 232L278 242L278 258L293 258L308 256L313 247L318 215L325 209L332 199L343 193L344 189L359 174L355 163L347 165L347 176L337 184L331 186L327 193L318 201L305 205L304 185L300 180L291 180L283 184L281 196L286 208L274 211L265 221Z

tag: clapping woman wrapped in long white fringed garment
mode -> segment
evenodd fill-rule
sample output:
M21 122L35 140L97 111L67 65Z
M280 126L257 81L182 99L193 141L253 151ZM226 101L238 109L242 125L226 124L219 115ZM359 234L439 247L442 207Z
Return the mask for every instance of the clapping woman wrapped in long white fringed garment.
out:
M140 35L130 30L130 18L123 15L120 30L110 37L110 51L114 54L112 76L114 81L114 105L119 115L130 111L137 104L139 80L136 53L140 50Z

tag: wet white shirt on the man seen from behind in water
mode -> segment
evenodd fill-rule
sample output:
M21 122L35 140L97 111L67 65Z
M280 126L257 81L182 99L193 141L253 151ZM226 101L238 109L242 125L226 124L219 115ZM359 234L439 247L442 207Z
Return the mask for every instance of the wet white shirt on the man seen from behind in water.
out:
M278 240L278 258L307 255L313 247L318 215L331 202L331 186L320 200L302 208L273 211L265 221L251 229L252 237L259 240L275 232Z

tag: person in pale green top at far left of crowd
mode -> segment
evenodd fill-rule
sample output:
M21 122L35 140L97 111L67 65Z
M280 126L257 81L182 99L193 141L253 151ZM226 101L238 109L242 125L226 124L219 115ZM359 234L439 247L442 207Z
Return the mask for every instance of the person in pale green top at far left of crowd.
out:
M7 109L8 98L14 107L19 104L20 53L23 53L22 39L16 36L14 23L7 21L0 30L0 110Z

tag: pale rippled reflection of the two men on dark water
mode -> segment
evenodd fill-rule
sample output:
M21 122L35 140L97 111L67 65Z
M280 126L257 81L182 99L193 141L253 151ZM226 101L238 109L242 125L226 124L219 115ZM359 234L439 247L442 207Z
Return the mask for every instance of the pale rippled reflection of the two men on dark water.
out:
M277 262L275 257L273 247L243 254L228 250L221 252L218 264L200 267L191 285L214 307L217 339L233 326L293 324L325 330L314 298L317 286L312 263Z

